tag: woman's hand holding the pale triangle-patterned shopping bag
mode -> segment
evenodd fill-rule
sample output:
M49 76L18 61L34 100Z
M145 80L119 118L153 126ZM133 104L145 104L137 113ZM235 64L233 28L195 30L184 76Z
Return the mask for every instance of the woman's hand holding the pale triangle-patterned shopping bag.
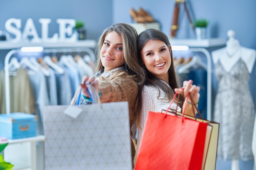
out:
M99 82L95 79L95 77L83 76L81 81L82 93L87 98L90 98L90 94L88 93L88 87L94 86L99 92Z

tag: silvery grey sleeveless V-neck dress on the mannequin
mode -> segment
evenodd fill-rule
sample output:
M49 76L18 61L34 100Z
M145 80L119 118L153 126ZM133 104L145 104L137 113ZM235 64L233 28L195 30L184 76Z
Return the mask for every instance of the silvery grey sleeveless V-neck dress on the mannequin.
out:
M215 65L218 91L214 121L220 123L218 157L223 160L251 160L254 102L249 89L249 72L240 59L230 72L220 61Z

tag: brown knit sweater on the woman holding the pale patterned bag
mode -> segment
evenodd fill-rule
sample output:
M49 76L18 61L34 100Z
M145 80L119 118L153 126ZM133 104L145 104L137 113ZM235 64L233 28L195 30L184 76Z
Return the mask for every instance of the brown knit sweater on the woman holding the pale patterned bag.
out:
M130 129L136 122L136 98L138 94L137 84L127 76L118 76L111 81L99 81L99 89L101 91L101 102L121 102L128 101ZM133 133L130 130L132 137ZM132 162L135 157L135 146L131 139Z

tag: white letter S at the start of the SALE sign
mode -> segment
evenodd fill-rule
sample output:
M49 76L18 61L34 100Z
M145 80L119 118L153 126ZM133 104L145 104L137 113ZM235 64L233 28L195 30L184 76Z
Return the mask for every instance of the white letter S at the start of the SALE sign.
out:
M12 24L14 24L16 27L14 27ZM21 39L21 31L20 31L21 20L20 19L10 18L5 22L4 27L8 33L15 35L15 38L10 39L10 41L15 41L15 42L20 41Z

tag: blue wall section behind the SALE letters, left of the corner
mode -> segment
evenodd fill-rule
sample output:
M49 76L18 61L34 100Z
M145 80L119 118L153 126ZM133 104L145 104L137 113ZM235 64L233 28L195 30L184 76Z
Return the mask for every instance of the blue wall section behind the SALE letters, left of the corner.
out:
M32 18L39 36L39 18L52 19L49 37L58 32L58 18L83 20L88 39L97 39L103 29L112 24L111 0L4 0L0 7L0 30L4 30L4 23L9 18L21 19L21 30L27 19Z

